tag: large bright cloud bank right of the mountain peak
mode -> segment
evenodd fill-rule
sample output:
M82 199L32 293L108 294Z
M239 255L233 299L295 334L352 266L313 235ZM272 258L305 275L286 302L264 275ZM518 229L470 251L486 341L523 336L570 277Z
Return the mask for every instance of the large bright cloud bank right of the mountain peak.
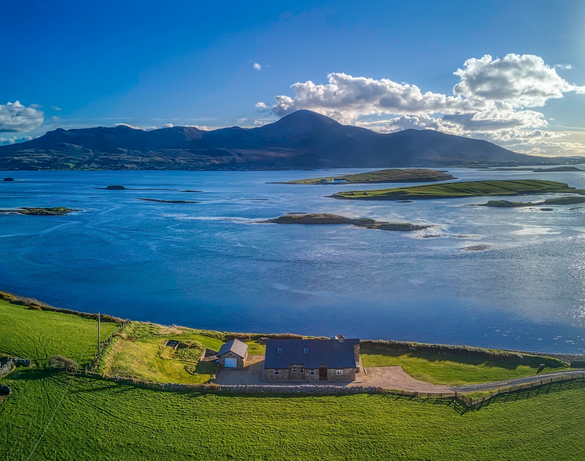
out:
M276 104L271 111L284 116L298 109L310 109L341 123L386 133L408 128L433 129L501 145L518 146L521 141L534 147L539 143L536 150L545 152L542 145L553 136L544 134L550 133L544 130L548 127L545 115L532 108L544 106L548 99L563 98L567 92L585 94L585 87L563 80L556 68L569 69L570 65L550 67L541 57L531 54L507 54L495 60L486 54L481 59L466 60L453 73L460 79L453 87L453 95L423 92L407 82L332 73L327 84L310 80L292 84L294 97L274 97ZM261 104L256 107L266 106ZM381 115L392 118L360 119ZM535 133L539 133L538 140ZM585 155L585 145L576 142L567 146L572 152L579 148Z

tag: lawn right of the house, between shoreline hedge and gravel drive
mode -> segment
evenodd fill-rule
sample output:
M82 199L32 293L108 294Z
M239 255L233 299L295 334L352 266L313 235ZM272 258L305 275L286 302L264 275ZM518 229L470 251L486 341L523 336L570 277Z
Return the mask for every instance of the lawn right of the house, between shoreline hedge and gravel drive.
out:
M473 357L439 355L426 352L394 352L362 345L364 367L400 365L410 376L436 384L475 384L532 376L538 367L505 360L486 362ZM564 370L545 367L541 373Z

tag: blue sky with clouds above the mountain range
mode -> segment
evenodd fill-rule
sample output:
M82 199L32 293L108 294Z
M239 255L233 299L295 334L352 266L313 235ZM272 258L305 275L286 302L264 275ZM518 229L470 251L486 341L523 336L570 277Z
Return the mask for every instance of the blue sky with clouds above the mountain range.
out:
M116 123L259 126L311 109L585 155L580 0L32 1L2 16L0 143Z

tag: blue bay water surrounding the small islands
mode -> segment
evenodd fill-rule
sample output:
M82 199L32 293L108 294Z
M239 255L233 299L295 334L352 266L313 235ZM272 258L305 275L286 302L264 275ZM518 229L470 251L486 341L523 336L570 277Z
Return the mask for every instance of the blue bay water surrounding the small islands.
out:
M222 331L583 353L585 208L466 206L486 198L338 201L325 196L381 186L267 184L359 171L366 170L6 172L17 181L0 182L0 208L83 211L0 215L0 289ZM580 172L449 172L585 188ZM109 184L135 189L99 189ZM257 222L287 212L439 227L407 233ZM462 250L479 245L490 247Z

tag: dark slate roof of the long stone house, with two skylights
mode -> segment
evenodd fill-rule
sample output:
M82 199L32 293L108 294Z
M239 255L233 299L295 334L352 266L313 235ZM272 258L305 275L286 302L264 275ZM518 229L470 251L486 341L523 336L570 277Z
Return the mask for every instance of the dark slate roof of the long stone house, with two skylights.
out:
M355 368L353 345L356 343L359 339L346 339L342 343L336 339L268 339L264 368L288 368L291 364L313 369L321 364L327 368ZM307 354L305 348L309 350Z

